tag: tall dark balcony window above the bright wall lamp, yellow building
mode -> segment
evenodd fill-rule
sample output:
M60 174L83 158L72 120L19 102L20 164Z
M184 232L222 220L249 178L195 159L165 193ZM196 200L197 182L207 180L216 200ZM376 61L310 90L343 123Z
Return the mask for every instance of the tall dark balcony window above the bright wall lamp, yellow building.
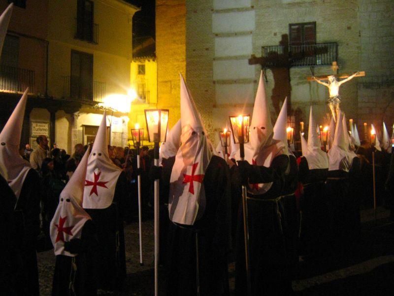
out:
M71 50L70 96L93 100L93 54Z

